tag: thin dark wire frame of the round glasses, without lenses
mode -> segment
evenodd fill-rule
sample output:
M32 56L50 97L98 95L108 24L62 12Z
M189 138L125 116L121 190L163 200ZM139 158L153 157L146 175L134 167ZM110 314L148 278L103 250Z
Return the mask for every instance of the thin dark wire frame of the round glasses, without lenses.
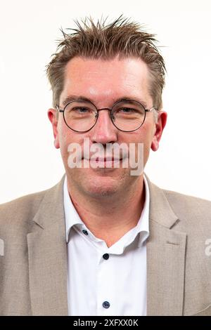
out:
M56 105L56 110L58 110L58 112L62 112L62 113L63 113L63 119L64 119L64 121L65 121L65 108L68 107L68 105L70 105L70 103L72 103L72 102L77 102L77 101L80 101L80 102L81 102L81 101L85 101L85 102L89 102L89 103L91 103L91 105L94 105L94 103L92 103L91 101L87 101L87 100L83 100L83 99L72 100L72 101L68 102L68 103L65 105L64 109L60 109L59 106ZM131 99L131 100L128 100L128 99L125 100L125 101L127 101L127 102L129 102L129 101L133 101L133 102L139 103L139 104L141 105L141 107L143 107L143 109L144 109L144 119L143 119L142 124L141 124L138 128L133 129L132 131L124 131L123 129L120 129L120 128L118 128L118 127L115 125L115 123L113 122L112 115L111 115L112 110L113 110L113 107L115 107L115 105L117 105L117 103L120 103L120 102L122 102L122 101L124 102L124 99L115 102L115 103L113 104L112 107L101 107L101 108L97 108L96 105L94 105L94 107L96 108L96 121L95 121L94 125L91 126L91 128L93 128L93 127L96 125L96 122L98 121L98 117L99 117L98 113L99 113L99 111L101 111L101 110L109 110L109 111L110 111L110 120L112 121L112 124L113 124L113 125L119 130L119 131L122 131L122 132L125 132L125 133L129 133L129 132L137 131L137 129L139 129L139 128L143 125L143 123L144 123L144 121L145 121L145 119L146 119L146 112L151 112L151 111L153 111L153 110L157 111L157 109L155 109L155 107L151 107L151 109L146 109L146 108L143 106L143 104L142 104L141 102L137 101L137 100L132 100L132 99ZM75 129L71 128L71 127L67 124L67 121L65 121L65 124L68 126L68 128L70 128L72 131L75 131L75 132L77 132L77 133L86 133L86 132L89 132L89 131L91 130L91 128L89 128L89 129L87 129L87 131L76 131Z

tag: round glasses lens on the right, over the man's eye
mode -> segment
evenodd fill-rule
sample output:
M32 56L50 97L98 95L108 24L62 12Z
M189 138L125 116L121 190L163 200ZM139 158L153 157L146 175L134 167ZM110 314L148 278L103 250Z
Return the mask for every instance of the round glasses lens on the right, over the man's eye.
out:
M122 131L138 129L145 119L145 110L141 103L125 100L114 105L111 118L113 124Z

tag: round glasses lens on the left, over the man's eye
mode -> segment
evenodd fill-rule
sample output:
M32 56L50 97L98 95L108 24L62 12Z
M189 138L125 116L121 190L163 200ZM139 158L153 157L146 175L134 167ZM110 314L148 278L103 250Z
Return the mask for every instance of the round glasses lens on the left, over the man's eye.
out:
M89 131L96 123L96 115L96 107L84 100L75 100L65 106L65 123L74 131Z

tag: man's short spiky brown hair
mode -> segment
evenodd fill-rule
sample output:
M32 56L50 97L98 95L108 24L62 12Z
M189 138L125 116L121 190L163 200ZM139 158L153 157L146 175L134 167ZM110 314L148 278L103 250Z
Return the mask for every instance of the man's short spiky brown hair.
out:
M150 93L153 106L158 110L162 107L162 88L165 85L165 62L155 46L155 34L142 30L139 23L129 19L117 18L106 25L106 20L97 22L91 18L76 20L77 28L72 33L63 33L64 39L59 40L53 59L46 65L46 74L53 91L53 107L59 104L60 93L63 91L65 66L69 60L79 56L82 58L111 60L119 58L141 58L148 65L151 86Z

